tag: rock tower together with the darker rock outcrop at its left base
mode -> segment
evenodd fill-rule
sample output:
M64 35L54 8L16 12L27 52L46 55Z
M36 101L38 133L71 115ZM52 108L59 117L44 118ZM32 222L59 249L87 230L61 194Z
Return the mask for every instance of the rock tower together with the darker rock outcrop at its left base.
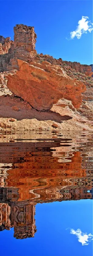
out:
M23 24L16 25L14 27L14 44L11 44L6 55L0 56L0 72L18 69L17 58L27 62L32 61L36 55L35 43L34 27Z

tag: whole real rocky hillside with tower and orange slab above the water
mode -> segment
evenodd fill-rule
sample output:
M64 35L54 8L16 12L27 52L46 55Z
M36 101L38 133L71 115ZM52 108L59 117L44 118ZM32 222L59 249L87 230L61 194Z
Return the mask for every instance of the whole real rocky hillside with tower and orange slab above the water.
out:
M6 39L0 37L2 49L4 49ZM68 116L69 120L65 119L60 123L59 119L59 122L58 120L53 122L51 115L50 120L33 119L33 117L30 117L30 120L25 119L24 113L23 119L17 121L22 111L22 108L19 108L16 119L9 125L10 127L7 127L6 122L9 119L7 119L8 114L7 116L2 114L2 101L1 130L92 129L92 65L81 65L77 62L63 61L61 58L57 60L42 53L37 54L35 43L36 33L33 27L22 24L14 27L14 42L9 38L7 49L0 52L0 95L5 94L8 99L12 97L13 100L15 95L19 97L16 98L15 110L9 110L11 118L14 118L14 112L18 108L17 99L22 98L26 105L29 105L27 111L30 113L26 112L27 116L33 116L33 109L38 111L39 116L40 111L51 109L52 113L60 115L62 120L63 116ZM5 100L7 104L7 99ZM20 104L22 105L23 102ZM35 114L35 116L38 115Z

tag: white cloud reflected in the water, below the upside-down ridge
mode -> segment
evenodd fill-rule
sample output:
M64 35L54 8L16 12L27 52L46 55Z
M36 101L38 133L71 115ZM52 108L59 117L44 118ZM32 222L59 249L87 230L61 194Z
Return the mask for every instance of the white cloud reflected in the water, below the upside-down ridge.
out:
M78 238L78 241L82 243L82 245L88 245L91 240L93 240L93 235L83 233L80 229L77 229L76 231L74 229L71 229L71 234L76 235Z

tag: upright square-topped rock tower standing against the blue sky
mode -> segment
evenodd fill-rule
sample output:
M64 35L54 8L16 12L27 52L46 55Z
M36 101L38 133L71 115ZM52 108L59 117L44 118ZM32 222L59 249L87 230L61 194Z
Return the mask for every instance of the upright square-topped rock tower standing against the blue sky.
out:
M34 27L16 25L14 27L14 57L30 62L36 54L36 33Z

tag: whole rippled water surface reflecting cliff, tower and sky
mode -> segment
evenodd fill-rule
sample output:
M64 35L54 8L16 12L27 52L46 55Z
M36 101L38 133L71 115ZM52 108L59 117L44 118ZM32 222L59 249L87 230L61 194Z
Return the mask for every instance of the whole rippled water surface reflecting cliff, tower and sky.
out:
M1 254L92 256L91 132L0 134Z

